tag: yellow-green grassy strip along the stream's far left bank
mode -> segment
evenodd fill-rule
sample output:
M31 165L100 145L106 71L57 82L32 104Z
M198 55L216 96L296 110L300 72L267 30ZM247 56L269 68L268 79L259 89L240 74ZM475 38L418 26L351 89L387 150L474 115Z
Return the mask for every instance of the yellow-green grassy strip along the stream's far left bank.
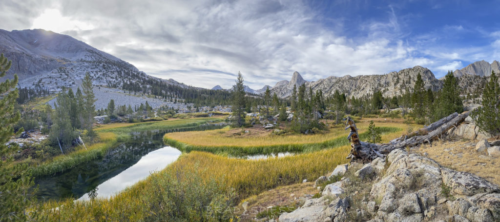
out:
M130 133L134 131L189 128L196 127L209 121L219 120L218 118L191 118L143 123L106 124L95 129L99 137L99 142L87 145L86 148L78 146L72 152L54 156L43 162L38 162L36 159L27 159L14 164L22 163L33 166L30 169L33 176L54 174L89 160L102 157L109 148L116 146L121 141L129 139Z

